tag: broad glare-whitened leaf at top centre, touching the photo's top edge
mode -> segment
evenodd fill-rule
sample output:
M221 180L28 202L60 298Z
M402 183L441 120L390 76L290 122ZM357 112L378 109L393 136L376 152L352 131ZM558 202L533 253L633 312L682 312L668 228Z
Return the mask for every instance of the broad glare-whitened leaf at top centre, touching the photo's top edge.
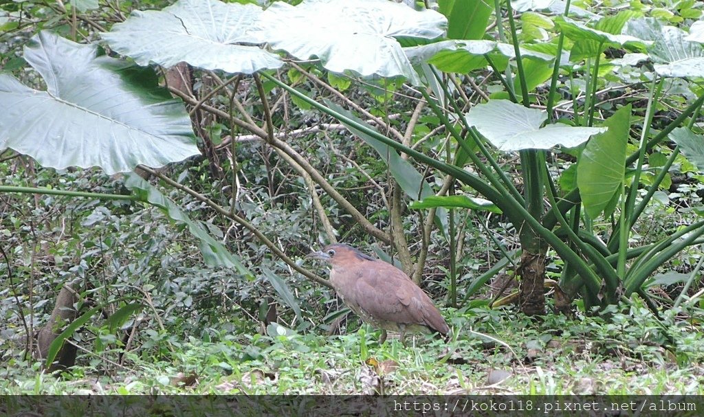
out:
M419 84L397 38L434 39L447 20L386 0L303 0L272 4L260 17L261 39L298 59L318 57L332 72L403 76Z

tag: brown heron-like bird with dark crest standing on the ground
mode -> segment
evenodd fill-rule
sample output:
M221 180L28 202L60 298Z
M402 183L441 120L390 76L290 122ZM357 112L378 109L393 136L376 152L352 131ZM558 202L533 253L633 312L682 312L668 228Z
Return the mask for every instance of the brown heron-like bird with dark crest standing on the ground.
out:
M341 243L308 257L332 265L332 287L363 321L382 329L379 343L386 340L386 331L401 333L402 343L407 331L450 331L430 297L401 269Z

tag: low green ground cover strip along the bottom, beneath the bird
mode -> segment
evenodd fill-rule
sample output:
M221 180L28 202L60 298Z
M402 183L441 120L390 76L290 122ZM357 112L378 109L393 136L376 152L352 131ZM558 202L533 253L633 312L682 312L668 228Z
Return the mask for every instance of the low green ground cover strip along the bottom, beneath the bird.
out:
M511 309L447 311L459 329L453 340L417 336L408 347L379 346L368 326L339 336L191 337L157 356L129 352L123 367L84 355L62 379L12 357L0 394L704 394L700 326L660 326L638 305L622 310L541 322ZM194 378L184 387L178 376Z

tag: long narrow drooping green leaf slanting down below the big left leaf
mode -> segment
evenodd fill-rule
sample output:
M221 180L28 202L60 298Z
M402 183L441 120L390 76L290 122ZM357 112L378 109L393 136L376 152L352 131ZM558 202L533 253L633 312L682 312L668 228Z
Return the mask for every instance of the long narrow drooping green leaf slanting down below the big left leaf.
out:
M185 224L193 236L198 238L198 247L203 254L203 261L208 267L232 267L239 274L251 276L251 272L225 248L222 243L215 240L205 227L199 222L191 220L178 205L172 202L168 197L158 191L156 187L144 181L139 175L130 173L127 174L125 187L130 188L132 193L137 195L140 200L149 203L163 210L168 217L175 222Z

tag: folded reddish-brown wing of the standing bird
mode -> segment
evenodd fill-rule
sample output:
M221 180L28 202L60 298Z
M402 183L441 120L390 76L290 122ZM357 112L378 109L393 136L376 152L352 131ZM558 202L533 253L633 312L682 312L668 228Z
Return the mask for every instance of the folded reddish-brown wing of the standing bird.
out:
M375 261L354 286L356 304L379 321L420 324L446 334L447 323L430 297L400 269Z

